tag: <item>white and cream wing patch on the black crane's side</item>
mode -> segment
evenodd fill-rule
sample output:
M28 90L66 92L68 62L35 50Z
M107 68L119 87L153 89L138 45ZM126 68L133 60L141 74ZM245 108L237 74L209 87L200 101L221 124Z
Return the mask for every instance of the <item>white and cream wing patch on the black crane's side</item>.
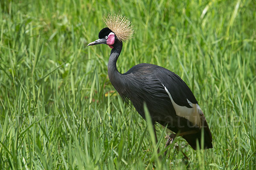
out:
M190 122L192 122L194 125L198 125L199 127L201 127L202 125L201 119L202 119L202 116L204 116L204 114L201 111L201 108L199 107L199 105L190 102L189 99L187 99L187 102L192 108L187 108L186 106L177 105L177 103L175 103L174 100L172 99L172 96L167 90L167 88L164 85L163 87L172 101L172 105L174 107L174 110L177 116L184 117L185 119L188 119Z

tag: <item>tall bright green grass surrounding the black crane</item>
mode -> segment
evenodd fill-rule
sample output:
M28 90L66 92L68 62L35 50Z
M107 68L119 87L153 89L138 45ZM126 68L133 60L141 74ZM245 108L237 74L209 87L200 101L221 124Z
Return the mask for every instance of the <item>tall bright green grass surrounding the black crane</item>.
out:
M147 123L109 82L110 48L86 46L109 12L135 30L119 71L147 62L178 74L204 111L213 149L192 150L179 137L189 160L173 149L154 156ZM0 167L255 169L255 28L255 0L1 1ZM157 130L163 151L167 133Z

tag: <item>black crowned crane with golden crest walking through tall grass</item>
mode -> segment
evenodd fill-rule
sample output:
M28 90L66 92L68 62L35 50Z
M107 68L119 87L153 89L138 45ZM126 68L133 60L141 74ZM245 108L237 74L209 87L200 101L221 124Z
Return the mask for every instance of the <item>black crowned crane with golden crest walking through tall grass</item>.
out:
M152 64L138 64L124 74L119 73L116 61L122 51L122 42L128 40L133 29L130 21L120 14L105 18L108 27L99 32L99 39L88 45L107 44L111 50L108 77L125 101L131 100L137 112L145 119L145 103L153 124L158 122L182 136L196 149L196 141L204 141L204 149L212 148L212 135L198 101L177 74ZM201 132L204 131L204 135ZM156 132L154 128L155 137ZM204 139L201 140L201 136ZM175 135L170 135L166 145ZM157 141L157 140L156 140Z

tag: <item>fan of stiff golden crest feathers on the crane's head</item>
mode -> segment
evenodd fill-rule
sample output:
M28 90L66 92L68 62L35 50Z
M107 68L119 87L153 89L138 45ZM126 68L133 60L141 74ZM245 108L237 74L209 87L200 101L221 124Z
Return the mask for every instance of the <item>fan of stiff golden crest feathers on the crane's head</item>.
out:
M108 28L116 34L119 40L124 41L132 37L134 30L127 17L121 14L108 14L103 20Z

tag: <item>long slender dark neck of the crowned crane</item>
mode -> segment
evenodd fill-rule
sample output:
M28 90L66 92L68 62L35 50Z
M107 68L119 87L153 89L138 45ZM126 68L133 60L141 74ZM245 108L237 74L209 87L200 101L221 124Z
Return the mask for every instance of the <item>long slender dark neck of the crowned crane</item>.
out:
M116 61L122 51L122 41L119 41L117 39L113 47L114 48L111 50L111 54L108 60L108 77L114 88L116 88L116 90L119 91L118 87L122 84L122 74L120 74L116 68Z

